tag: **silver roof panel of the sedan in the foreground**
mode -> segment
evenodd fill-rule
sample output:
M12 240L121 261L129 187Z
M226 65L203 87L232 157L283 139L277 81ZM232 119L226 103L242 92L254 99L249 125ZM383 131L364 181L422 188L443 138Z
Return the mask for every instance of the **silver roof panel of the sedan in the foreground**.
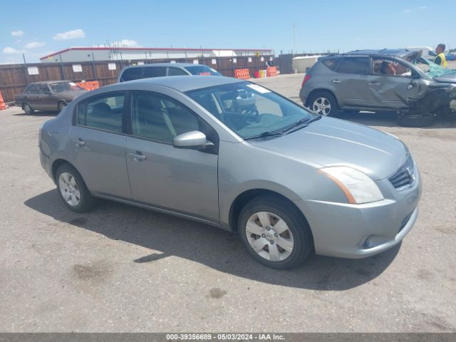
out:
M239 78L231 78L224 76L165 76L165 77L153 77L153 78L140 78L134 81L127 81L120 84L128 83L148 83L157 84L159 86L165 86L173 88L182 93L188 90L202 89L213 86L221 86L223 84L239 83L244 80Z

